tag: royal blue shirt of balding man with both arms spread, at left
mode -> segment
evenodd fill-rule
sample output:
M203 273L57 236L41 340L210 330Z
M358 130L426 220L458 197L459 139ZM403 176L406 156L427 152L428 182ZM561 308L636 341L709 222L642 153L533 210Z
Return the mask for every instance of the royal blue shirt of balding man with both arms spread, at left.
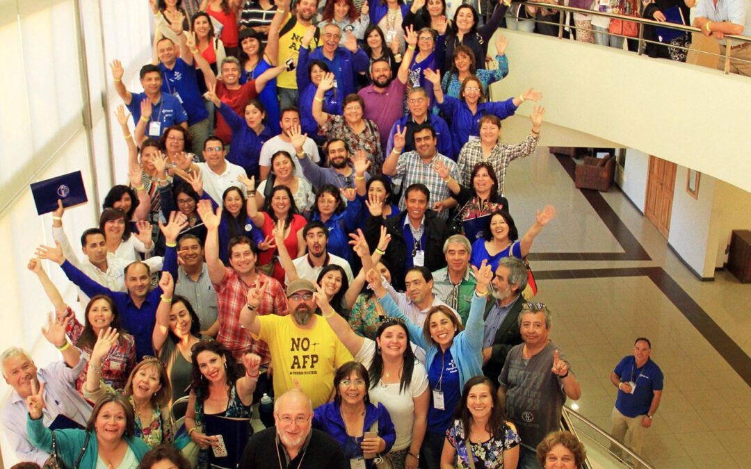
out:
M98 284L89 278L88 275L77 269L76 266L69 263L68 260L62 263L61 267L65 275L68 275L68 279L89 297L107 295L113 299L120 315L122 328L135 338L138 361L143 359L144 355L154 354L151 336L156 324L156 308L159 305L159 296L163 293L161 287L157 285L154 290L151 290L139 308L134 304L130 293L113 291ZM162 271L170 272L172 278L177 278L177 254L175 248L167 246L165 249L164 268Z

